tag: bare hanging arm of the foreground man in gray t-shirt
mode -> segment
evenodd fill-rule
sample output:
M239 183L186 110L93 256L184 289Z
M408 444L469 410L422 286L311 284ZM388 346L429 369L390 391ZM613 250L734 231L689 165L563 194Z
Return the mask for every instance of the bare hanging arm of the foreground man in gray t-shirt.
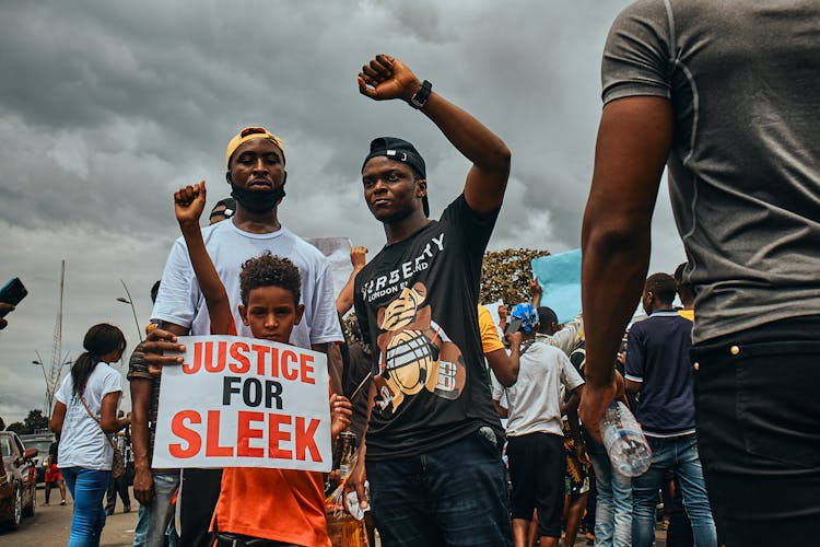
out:
M614 356L646 277L652 213L672 123L670 103L659 97L613 101L601 115L582 230L585 423L598 423L616 394Z

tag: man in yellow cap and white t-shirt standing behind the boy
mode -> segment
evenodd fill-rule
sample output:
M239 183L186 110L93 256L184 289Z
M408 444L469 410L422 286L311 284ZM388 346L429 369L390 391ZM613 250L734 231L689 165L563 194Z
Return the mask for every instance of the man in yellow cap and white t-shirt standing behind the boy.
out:
M242 264L270 251L293 261L302 277L305 313L293 329L291 342L323 352L335 349L335 342L342 341L342 334L327 261L318 249L282 226L278 219L288 177L281 139L261 127L245 128L229 142L225 163L225 178L236 199L236 212L232 219L203 228L202 237L231 300L238 335L250 336L238 315ZM163 350L176 347L171 344L175 341L174 335L210 334L208 309L181 237L174 243L165 264L152 321L161 322L160 328L149 335L142 347L145 361L152 364L175 362L174 358L161 356ZM331 361L336 360L328 359ZM340 371L331 368L333 391L340 393L338 379ZM220 480L221 469L183 473L180 540L186 547L210 545L208 529Z

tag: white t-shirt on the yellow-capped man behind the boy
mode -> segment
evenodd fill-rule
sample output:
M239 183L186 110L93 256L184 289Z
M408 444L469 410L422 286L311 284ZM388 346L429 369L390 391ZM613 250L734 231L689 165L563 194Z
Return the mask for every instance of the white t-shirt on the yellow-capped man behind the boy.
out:
M243 232L231 220L203 228L202 237L216 272L225 286L239 336L253 336L250 329L242 323L238 310L242 303L242 265L248 258L270 251L274 255L290 259L298 268L302 277L302 303L305 304L305 314L293 328L291 344L309 348L312 344L342 341L327 259L316 247L286 228L267 234L254 234ZM153 319L188 327L191 335L211 334L208 307L183 237L176 240L171 248L151 316Z

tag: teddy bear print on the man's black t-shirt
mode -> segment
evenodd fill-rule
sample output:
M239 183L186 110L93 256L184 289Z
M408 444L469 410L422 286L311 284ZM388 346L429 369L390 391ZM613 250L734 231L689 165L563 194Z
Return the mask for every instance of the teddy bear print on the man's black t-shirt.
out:
M461 395L467 372L461 350L432 319L427 289L417 282L378 310L376 404L393 412L405 397L425 389L445 399Z

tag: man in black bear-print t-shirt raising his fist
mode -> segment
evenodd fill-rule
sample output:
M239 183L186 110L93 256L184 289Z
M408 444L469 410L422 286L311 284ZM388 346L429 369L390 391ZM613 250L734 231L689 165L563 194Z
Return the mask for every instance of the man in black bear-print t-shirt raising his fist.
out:
M371 60L359 88L371 98L401 98L421 109L472 167L464 194L436 222L427 219L425 165L415 148L393 137L371 143L364 198L387 245L355 279L374 380L349 489L366 505L366 466L383 545L508 545L503 431L483 368L477 304L509 151L397 59ZM515 382L509 370L495 374Z

